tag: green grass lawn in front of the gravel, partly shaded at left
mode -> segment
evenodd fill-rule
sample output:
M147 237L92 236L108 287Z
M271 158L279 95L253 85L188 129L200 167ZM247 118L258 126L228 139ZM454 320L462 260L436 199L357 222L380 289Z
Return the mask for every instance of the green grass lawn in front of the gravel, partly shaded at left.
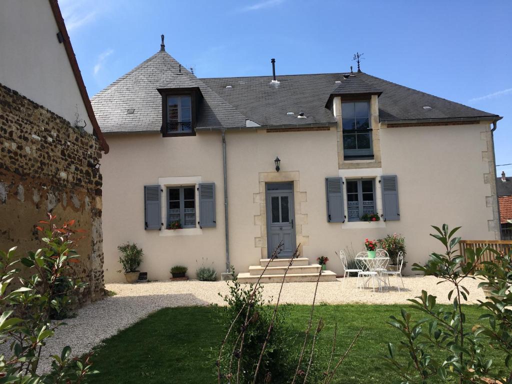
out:
M354 349L336 374L335 383L391 383L393 374L381 367L376 355L387 350L387 342L396 342L398 331L386 324L389 316L397 317L398 305L319 305L315 317L322 316L326 326L319 343L332 339L338 324L338 350L347 348L360 327L364 331ZM297 333L304 332L309 306L293 306L289 321ZM465 308L468 322L476 322L480 310ZM224 337L218 324L217 307L165 308L134 326L106 340L95 351L94 368L100 371L93 384L131 383L213 383L216 381L215 358ZM414 311L412 311L414 313ZM419 318L419 315L417 316ZM496 362L503 364L499 357Z

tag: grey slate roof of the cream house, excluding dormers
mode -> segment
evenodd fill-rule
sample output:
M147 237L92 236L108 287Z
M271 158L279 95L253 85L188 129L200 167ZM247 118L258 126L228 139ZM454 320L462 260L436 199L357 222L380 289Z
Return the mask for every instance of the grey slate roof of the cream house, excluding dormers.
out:
M276 83L271 76L199 79L184 67L178 75L179 68L178 61L159 51L96 94L91 102L101 130L159 131L162 99L157 89L173 87L200 88L204 98L198 108L198 129L245 127L246 120L262 126L335 124L326 108L330 95L361 90L382 92L381 121L498 117L366 73L354 73L347 79L344 73L283 75L277 76ZM135 112L127 114L128 109ZM299 113L307 118L297 118Z

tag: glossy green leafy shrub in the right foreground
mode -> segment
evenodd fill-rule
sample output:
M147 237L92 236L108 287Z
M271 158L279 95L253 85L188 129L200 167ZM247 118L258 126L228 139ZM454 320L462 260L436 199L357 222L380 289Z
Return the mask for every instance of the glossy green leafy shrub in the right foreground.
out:
M388 344L388 354L382 357L385 366L397 374L397 382L447 381L448 378L459 383L512 383L512 253L499 255L487 247L467 248L464 258L457 253L460 238L454 236L460 227L450 230L444 224L433 228L437 233L431 236L445 250L432 253L425 266L414 264L413 270L450 284L453 289L448 293L448 300L453 297L453 305L440 307L436 296L422 291L409 301L426 315L424 318L413 319L406 309L401 310L401 316L391 316L389 324L400 331L404 340L397 345ZM497 262L483 262L487 267L475 273L486 252L498 254ZM476 278L484 279L480 286L493 289L493 297L480 301L486 313L479 319L486 320L488 326L467 324L464 313L462 302L467 301L470 291L462 284L465 279ZM487 354L489 348L502 352L505 369L495 368ZM432 350L444 351L444 356L434 357Z

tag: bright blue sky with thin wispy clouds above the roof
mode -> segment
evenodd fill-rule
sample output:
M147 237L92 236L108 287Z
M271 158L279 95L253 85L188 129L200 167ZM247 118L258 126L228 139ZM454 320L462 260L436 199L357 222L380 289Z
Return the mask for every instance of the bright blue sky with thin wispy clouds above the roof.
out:
M129 1L59 2L89 95L167 52L198 77L361 69L504 116L497 164L512 163L512 2ZM512 165L500 166L512 176Z

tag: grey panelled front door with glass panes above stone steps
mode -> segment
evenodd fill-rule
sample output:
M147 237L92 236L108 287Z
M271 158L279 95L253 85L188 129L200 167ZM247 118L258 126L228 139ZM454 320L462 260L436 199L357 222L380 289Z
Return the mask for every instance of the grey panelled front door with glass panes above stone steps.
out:
M296 247L293 183L267 183L266 205L268 257L283 241L279 257L290 258Z

